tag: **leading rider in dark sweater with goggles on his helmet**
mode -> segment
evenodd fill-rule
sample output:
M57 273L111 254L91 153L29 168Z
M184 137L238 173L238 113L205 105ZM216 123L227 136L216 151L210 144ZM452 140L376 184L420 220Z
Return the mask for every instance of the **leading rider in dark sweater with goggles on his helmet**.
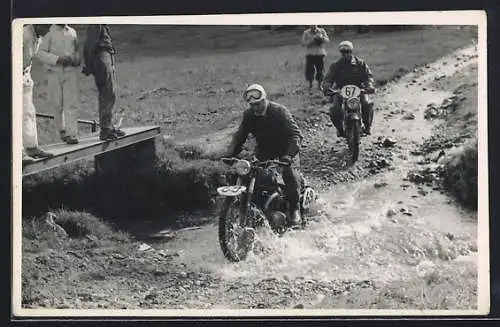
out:
M299 150L303 139L290 111L281 104L269 101L266 91L259 84L250 85L243 93L249 108L229 146L229 155L236 157L248 134L257 141L255 157L259 161L279 159L290 163L283 168L284 193L290 203L291 225L301 223L300 215L300 158Z

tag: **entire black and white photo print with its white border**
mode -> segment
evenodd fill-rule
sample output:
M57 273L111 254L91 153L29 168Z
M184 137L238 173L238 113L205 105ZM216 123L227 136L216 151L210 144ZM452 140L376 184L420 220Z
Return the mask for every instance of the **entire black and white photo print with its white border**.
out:
M489 312L484 12L12 26L16 315Z

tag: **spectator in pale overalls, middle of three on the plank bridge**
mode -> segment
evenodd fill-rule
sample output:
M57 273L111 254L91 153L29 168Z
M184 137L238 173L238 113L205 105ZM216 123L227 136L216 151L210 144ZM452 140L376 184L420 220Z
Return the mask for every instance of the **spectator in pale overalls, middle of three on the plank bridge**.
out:
M55 109L55 123L61 140L77 144L77 67L80 52L76 31L67 24L54 24L40 45L47 76L48 98ZM66 57L63 64L58 59Z

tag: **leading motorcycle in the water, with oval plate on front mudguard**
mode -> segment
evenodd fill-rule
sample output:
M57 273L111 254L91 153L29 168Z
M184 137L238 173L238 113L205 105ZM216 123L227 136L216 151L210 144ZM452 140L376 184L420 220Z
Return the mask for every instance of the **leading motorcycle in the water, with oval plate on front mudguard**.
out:
M265 225L277 235L290 227L290 205L284 195L281 170L289 165L279 160L244 160L222 158L235 173L234 185L217 188L225 197L219 215L219 244L232 262L245 260L255 241L255 229ZM234 179L233 179L234 180ZM317 199L316 192L301 178L300 211L304 214Z

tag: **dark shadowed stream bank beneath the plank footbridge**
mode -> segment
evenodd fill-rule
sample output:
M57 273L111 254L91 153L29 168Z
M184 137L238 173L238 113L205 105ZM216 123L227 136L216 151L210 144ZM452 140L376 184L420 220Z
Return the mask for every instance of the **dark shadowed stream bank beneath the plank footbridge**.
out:
M157 147L157 162L150 170L99 175L89 160L25 177L23 216L66 208L137 220L209 208L215 188L225 181L225 167L200 157L200 151L192 147L176 148L168 142Z

